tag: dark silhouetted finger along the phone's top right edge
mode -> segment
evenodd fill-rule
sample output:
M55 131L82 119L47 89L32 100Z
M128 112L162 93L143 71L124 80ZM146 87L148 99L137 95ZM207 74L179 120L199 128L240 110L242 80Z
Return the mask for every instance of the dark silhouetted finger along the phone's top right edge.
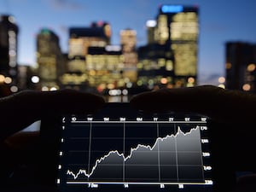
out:
M147 112L201 113L218 121L253 120L255 115L249 110L256 107L256 97L203 85L145 92L131 98L131 105Z

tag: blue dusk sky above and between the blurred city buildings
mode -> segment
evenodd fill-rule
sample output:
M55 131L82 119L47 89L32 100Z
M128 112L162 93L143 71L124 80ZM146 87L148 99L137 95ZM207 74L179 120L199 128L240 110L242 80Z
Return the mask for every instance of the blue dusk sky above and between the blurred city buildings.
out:
M68 51L68 28L90 26L93 21L108 21L112 26L112 44L120 44L119 31L131 28L137 31L137 46L147 43L146 21L155 19L160 4L184 4L199 7L199 83L207 84L224 75L224 44L229 41L254 43L256 26L253 24L256 2L232 4L215 1L111 1L102 6L99 0L9 0L0 3L0 14L15 16L20 27L18 36L19 64L34 65L36 62L36 35L43 27L49 27L60 38L61 51ZM242 6L241 6L242 5ZM44 11L42 11L44 10ZM120 15L120 16L116 16ZM253 16L254 15L254 16ZM84 19L86 18L86 19ZM29 21L28 21L29 20ZM250 21L251 20L251 21ZM39 21L39 22L38 22Z

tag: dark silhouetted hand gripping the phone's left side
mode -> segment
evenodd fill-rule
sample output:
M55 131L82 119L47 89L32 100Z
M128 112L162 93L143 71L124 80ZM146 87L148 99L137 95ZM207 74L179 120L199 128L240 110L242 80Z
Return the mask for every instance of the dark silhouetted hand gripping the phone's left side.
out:
M103 105L101 96L77 90L24 90L0 98L0 191L54 191L31 185L44 183L42 170L55 172L55 146L42 145L39 134L42 130L21 130L37 120L55 119L61 114L94 113ZM51 173L48 177L53 177Z

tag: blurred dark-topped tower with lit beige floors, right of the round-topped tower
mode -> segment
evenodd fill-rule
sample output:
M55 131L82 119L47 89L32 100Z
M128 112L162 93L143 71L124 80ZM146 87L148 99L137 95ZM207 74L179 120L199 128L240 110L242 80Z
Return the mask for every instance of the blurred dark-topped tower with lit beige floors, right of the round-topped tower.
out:
M70 27L68 41L67 73L61 77L61 84L77 90L90 89L89 78L92 73L87 67L90 47L105 49L110 44L111 26L108 22L93 22L87 27ZM94 91L94 90L90 90Z

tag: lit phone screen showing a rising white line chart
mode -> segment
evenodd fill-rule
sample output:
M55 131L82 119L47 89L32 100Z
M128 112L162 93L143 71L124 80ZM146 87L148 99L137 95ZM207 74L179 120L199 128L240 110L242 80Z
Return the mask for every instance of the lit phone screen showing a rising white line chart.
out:
M108 103L62 117L56 184L67 191L211 191L207 117Z

